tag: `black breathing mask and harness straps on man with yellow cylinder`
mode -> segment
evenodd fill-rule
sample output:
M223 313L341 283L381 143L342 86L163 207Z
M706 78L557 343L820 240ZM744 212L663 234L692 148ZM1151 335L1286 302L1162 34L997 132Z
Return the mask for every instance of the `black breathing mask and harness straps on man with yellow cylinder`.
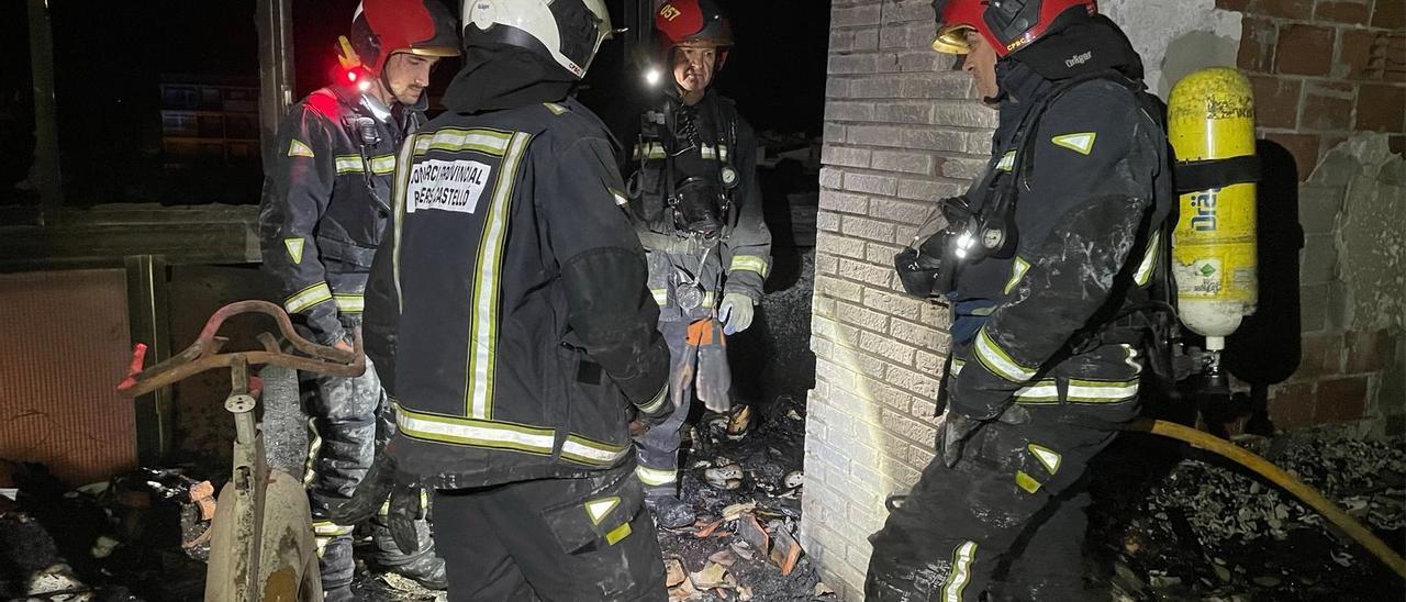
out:
M894 267L908 295L922 300L946 297L953 293L956 278L965 266L986 257L1010 259L1015 253L1019 241L1015 208L1019 193L1029 191L1031 174L1035 170L1035 142L1039 136L1035 136L1033 131L1039 125L1039 118L1064 93L1095 79L1128 87L1139 100L1143 113L1166 131L1166 108L1161 101L1146 93L1139 82L1116 70L1099 70L1059 82L1021 118L1015 131L1017 150L1010 176L997 174L988 180L986 203L980 208L973 208L966 196L939 200L936 211L920 228L918 236L894 256ZM995 169L1004 166L997 165ZM945 225L934 229L938 218L943 219ZM1160 280L1150 283L1147 288L1130 286L1121 291L1130 302L1111 308L1111 315L1099 316L1104 319L1091 319L1094 326L1076 332L1062 350L1063 354L1087 353L1109 343L1144 347L1149 350L1152 371L1171 381L1173 346L1178 336L1175 284L1171 280L1170 266L1174 226L1174 218L1166 219L1161 224L1163 235L1156 236L1161 246L1157 249ZM928 232L932 233L927 235ZM1152 235L1153 232L1147 232L1149 239L1153 239Z

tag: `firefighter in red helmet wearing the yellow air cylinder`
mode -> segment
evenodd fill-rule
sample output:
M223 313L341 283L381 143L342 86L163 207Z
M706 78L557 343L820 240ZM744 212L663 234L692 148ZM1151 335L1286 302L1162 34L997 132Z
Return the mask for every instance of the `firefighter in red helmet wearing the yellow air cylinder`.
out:
M935 4L934 48L965 55L1000 120L984 174L896 257L910 293L950 302L952 363L936 459L870 537L866 599L1095 599L1078 481L1153 378L1161 105L1094 0Z

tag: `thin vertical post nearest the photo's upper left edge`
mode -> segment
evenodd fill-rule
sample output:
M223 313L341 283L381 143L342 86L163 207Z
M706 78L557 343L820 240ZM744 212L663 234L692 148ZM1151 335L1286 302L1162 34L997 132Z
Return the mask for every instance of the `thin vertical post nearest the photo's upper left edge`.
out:
M53 31L48 0L30 0L30 72L34 77L34 169L39 187L39 224L56 225L63 208L59 172L58 103L53 98Z

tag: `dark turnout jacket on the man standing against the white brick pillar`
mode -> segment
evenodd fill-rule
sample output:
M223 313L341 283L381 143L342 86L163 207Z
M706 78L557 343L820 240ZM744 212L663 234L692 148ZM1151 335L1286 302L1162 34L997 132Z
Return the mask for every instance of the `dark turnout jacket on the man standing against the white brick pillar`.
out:
M634 173L630 207L636 231L650 253L650 291L664 319L692 318L679 308L675 294L678 269L682 267L703 287L704 308L721 301L718 293L738 293L759 304L772 267L772 233L763 219L762 190L756 180L756 134L733 101L713 90L689 108L673 96L665 103L671 117L665 120L659 110L645 113L624 167L627 173ZM681 111L693 113L699 145L675 136L673 125ZM737 186L728 193L731 205L717 250L706 256L703 253L711 243L675 228L666 181L671 155L675 179L700 176L721 183L724 167L737 174ZM699 262L699 257L703 260Z

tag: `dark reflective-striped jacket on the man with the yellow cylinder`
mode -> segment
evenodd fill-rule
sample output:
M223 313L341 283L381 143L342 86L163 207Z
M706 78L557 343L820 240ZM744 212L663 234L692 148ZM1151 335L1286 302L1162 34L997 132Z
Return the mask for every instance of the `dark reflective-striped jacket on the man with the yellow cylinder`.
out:
M1160 105L1140 82L1109 72L1028 115L1056 86L1018 62L1010 68L993 158L967 198L983 207L990 184L1033 163L1017 183L1015 255L957 276L949 404L979 419L1011 402L1078 404L1130 419L1139 349L1084 335L1107 332L1157 276L1175 201ZM1024 136L1035 139L1022 145ZM1022 146L1032 156L1018 156Z

